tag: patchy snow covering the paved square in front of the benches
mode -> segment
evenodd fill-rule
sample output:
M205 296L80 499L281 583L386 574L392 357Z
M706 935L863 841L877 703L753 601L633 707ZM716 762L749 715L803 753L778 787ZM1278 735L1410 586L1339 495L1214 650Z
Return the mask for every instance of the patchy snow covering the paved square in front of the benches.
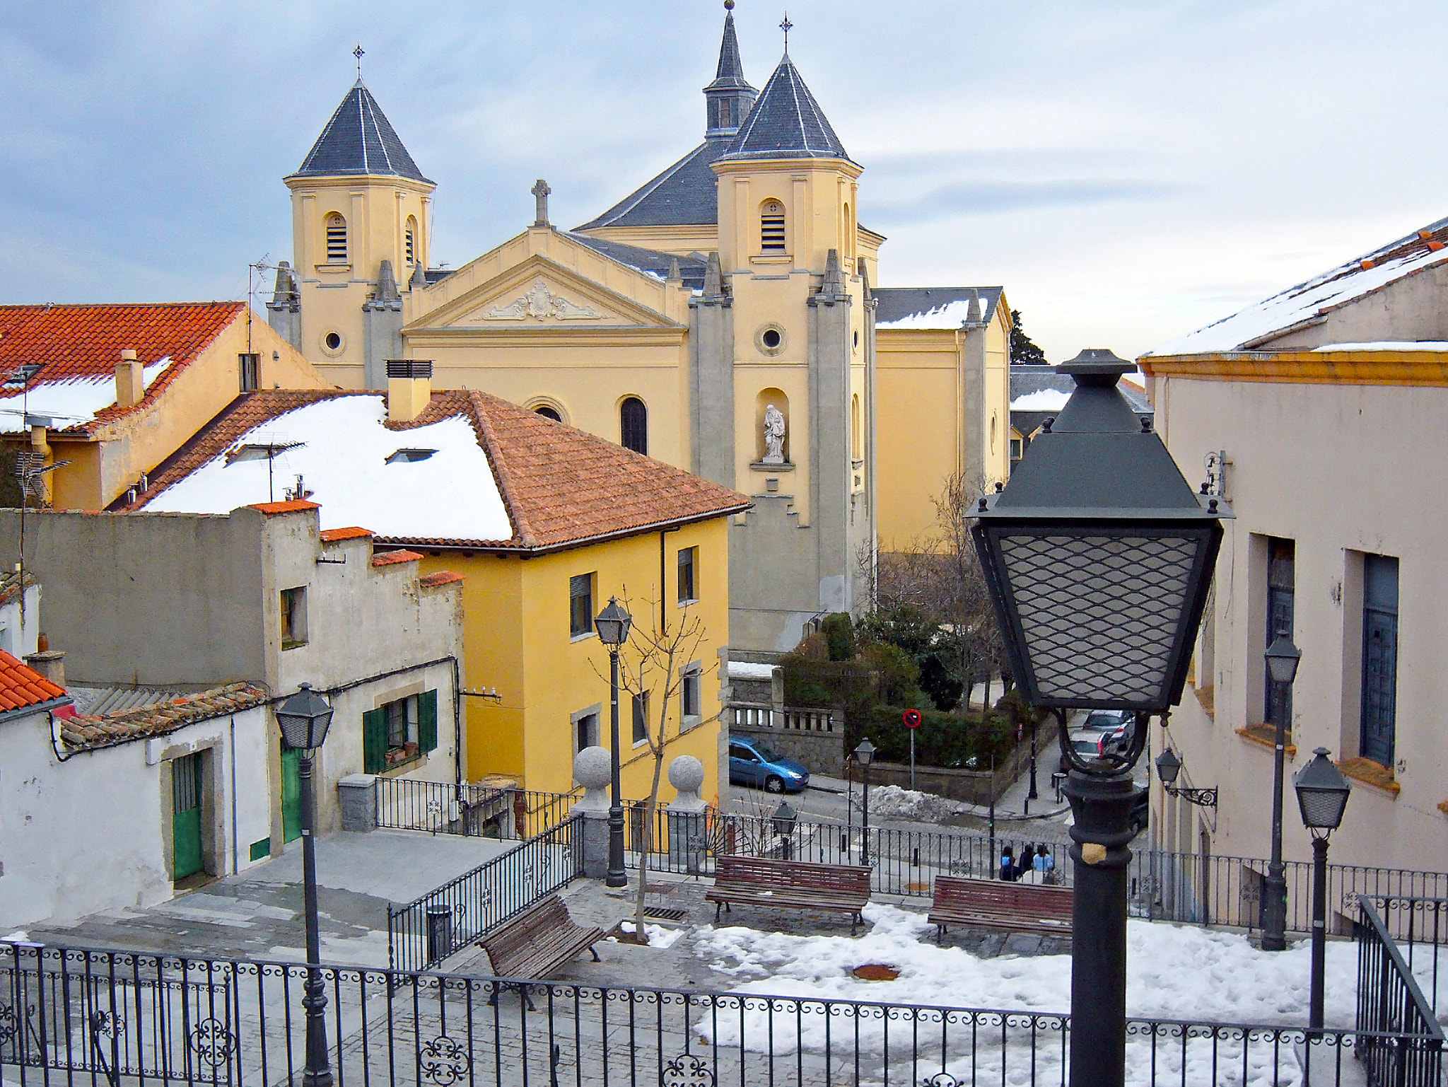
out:
M866 1078L882 1078L882 1064L917 1058L963 1083L1051 1083L1063 1075L1067 1045L1053 1015L1070 1009L1070 955L1001 955L982 959L961 948L937 948L934 928L918 913L893 906L864 907L870 930L859 938L788 936L746 928L695 930L695 954L733 978L730 990L782 996L807 1003L753 1000L701 1022L704 1041L770 1049L775 1055L837 1054L843 1045L863 1058ZM1257 951L1244 936L1163 922L1127 925L1127 1013L1134 1017L1195 1022L1299 1025L1306 1019L1309 949ZM869 962L896 967L895 981L862 981L851 970ZM1328 945L1326 1025L1351 1026L1355 948ZM1030 1010L1044 1017L1012 1019L934 1015L940 1023L912 1030L909 1013L825 1012L824 1000L859 1000L927 1007ZM788 1029L782 1025L788 1023ZM757 1039L757 1042L756 1042ZM798 1039L798 1041L796 1041ZM944 1039L944 1049L941 1049ZM857 1049L856 1049L857 1046ZM918 1046L918 1049L917 1049ZM873 1065L873 1067L870 1067ZM1226 1080L1218 1073L1231 1068ZM1242 1074L1245 1071L1245 1075ZM893 1074L893 1073L891 1073ZM1290 1045L1248 1042L1231 1032L1218 1039L1153 1039L1128 1033L1127 1081L1266 1084L1300 1083Z

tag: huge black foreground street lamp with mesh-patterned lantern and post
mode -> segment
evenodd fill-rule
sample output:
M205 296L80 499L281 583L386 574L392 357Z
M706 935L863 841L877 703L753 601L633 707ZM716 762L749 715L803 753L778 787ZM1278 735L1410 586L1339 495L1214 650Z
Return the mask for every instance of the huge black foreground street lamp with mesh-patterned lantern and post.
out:
M1070 767L1074 906L1072 1087L1122 1084L1127 1061L1128 826L1147 722L1182 699L1222 539L1225 503L1196 494L1116 388L1134 367L1083 351L1076 388L1003 490L972 510L1011 674L1054 710ZM1083 758L1069 709L1135 715L1129 744Z

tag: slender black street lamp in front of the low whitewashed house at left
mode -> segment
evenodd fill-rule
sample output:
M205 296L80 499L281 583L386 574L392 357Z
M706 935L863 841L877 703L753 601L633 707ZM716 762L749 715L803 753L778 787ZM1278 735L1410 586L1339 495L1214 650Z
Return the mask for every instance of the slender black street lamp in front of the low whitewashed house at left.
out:
M307 1067L301 1074L306 1087L332 1087L327 1061L327 988L321 981L321 946L317 935L317 854L314 845L316 799L311 784L311 758L327 738L332 707L311 690L310 683L277 707L281 741L301 752L297 777L301 778L301 883L307 915L307 984L301 1006L307 1009Z

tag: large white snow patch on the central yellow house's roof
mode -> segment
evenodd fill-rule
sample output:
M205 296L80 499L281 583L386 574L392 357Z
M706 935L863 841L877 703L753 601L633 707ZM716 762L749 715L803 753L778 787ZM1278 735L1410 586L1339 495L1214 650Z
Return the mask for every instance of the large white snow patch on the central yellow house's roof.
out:
M307 404L248 430L237 445L303 445L271 464L272 488L303 477L321 504L321 528L366 525L378 536L508 539L502 496L472 423L450 416L390 430L387 399L340 396ZM436 449L426 459L387 458L398 449ZM235 446L233 446L235 449ZM230 513L266 501L268 462L214 457L146 503L156 513Z

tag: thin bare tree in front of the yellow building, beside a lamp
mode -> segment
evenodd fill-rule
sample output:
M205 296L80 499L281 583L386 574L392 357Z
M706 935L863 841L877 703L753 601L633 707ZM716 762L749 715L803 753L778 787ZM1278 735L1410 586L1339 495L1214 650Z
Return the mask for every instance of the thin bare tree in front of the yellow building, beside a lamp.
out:
M624 588L624 609L634 612ZM628 629L628 642L618 659L618 690L628 696L630 715L641 725L643 741L653 757L653 784L649 801L643 810L643 833L639 844L639 893L634 906L634 938L649 942L643 922L644 891L649 883L649 854L653 848L653 828L659 810L659 783L663 778L663 759L670 744L683 735L683 686L698 677L702 693L704 677L718 671L711 662L691 672L689 665L704 644L704 620L685 604L672 628L665 625L665 610L657 600L649 600L649 625L634 619ZM624 707L620 706L620 713ZM672 719L670 719L672 713ZM715 720L711 717L710 720ZM704 720L695 723L702 725ZM637 741L636 741L637 742Z

